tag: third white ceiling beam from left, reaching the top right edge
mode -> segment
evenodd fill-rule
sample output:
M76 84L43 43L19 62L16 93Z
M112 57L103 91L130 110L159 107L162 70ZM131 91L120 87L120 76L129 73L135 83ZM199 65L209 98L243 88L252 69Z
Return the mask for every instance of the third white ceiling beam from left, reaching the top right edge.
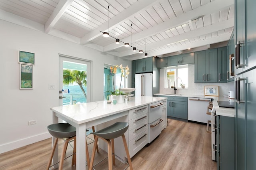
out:
M147 30L139 32L137 34L132 35L132 40L134 42L147 38L149 36L153 36L159 32L166 31L168 29L174 28L176 26L180 26L182 23L188 23L192 18L196 18L198 16L204 16L208 14L215 13L216 11L220 11L225 8L229 8L234 5L233 0L214 0L204 6L200 6L195 8L194 10L188 11L178 17L172 18L161 24L155 25ZM130 36L122 39L122 42L129 42L131 40ZM113 49L121 47L123 44L116 45L116 43L111 43L104 47L104 51L111 51Z

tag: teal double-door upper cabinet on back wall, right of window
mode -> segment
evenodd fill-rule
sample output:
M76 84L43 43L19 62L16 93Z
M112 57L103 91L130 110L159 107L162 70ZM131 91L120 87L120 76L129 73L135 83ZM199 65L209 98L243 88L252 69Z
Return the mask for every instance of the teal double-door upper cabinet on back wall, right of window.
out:
M217 49L195 52L195 83L217 82Z

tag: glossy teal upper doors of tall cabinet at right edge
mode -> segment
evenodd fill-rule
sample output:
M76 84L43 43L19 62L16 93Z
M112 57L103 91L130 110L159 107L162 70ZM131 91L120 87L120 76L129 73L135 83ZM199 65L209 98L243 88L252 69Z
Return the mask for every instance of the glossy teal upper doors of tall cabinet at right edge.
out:
M239 48L235 75L256 65L255 6L255 0L235 0L235 42Z

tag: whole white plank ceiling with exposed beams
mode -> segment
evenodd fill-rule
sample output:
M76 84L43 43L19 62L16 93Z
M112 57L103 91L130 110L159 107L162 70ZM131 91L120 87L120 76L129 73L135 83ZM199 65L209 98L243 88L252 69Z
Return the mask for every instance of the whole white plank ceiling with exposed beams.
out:
M164 57L229 40L233 4L233 0L0 0L0 19L134 60L144 57L138 49L146 49L149 57ZM111 37L104 38L102 32ZM137 51L117 45L115 38Z

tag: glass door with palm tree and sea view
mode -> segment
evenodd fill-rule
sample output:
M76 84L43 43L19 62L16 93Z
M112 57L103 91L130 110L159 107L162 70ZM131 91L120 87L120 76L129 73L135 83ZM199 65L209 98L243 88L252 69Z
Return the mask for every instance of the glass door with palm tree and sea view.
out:
M90 102L90 62L60 56L59 105Z

